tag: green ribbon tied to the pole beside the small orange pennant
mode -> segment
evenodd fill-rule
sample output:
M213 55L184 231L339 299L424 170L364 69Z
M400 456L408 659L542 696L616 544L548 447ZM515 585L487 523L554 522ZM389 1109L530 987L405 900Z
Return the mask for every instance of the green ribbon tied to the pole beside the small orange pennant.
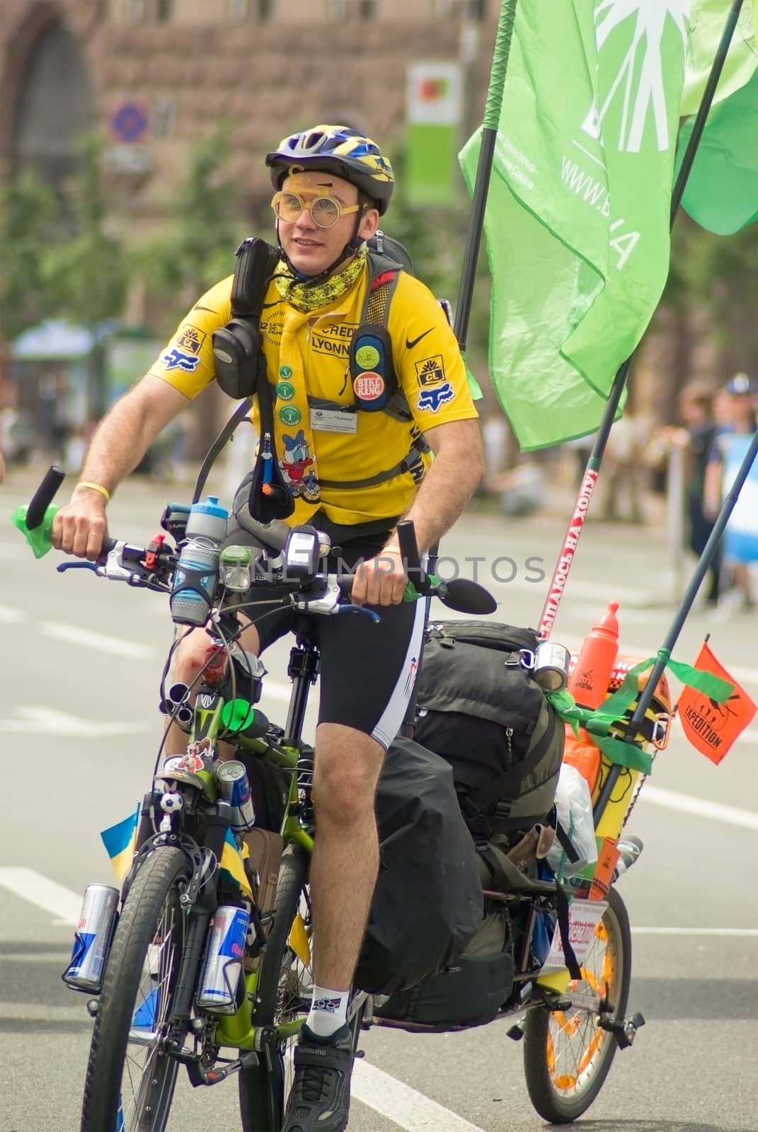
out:
M577 738L579 738L579 727L581 726L587 731L589 741L599 747L610 762L640 771L642 774L649 774L653 769L651 756L636 744L625 743L623 739L616 739L608 735L608 731L614 724L623 721L624 712L638 698L640 694L637 683L638 676L647 672L659 660L682 684L697 688L698 692L705 693L717 703L726 703L734 691L734 685L730 684L729 680L722 680L713 672L704 672L701 669L684 664L680 660L672 660L667 649L659 649L655 657L649 657L636 664L634 668L630 668L621 687L595 710L580 707L565 688L562 692L548 692L546 697L563 722L571 726Z

